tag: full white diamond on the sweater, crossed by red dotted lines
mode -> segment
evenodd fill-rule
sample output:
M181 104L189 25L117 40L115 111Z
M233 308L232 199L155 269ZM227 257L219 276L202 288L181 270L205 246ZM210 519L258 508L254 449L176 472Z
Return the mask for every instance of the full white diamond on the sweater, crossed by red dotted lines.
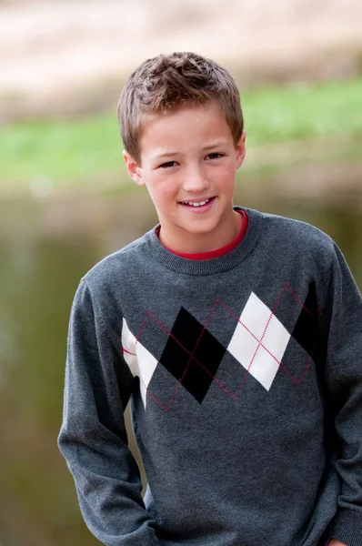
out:
M278 363L286 352L290 334L254 292L250 294L239 320L242 324L237 323L227 350L269 390L277 375ZM267 350L259 346L259 340Z

